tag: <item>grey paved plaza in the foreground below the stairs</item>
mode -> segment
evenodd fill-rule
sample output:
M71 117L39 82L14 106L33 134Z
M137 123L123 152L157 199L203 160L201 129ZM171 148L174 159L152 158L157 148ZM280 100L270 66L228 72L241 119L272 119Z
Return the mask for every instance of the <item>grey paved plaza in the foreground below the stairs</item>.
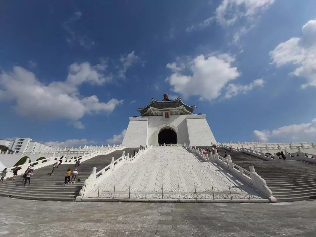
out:
M88 203L0 197L0 236L316 236L314 201Z

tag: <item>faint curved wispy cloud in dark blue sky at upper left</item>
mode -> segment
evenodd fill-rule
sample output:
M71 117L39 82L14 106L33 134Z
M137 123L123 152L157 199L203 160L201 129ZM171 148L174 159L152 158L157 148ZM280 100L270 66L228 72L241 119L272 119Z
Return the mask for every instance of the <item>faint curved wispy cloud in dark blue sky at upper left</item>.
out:
M82 16L81 11L74 12L73 17L70 17L63 23L63 27L68 33L68 37L66 38L66 41L69 44L72 44L74 42L79 43L80 46L89 49L92 46L94 46L94 40L90 39L87 35L77 35L74 32L73 25L80 19Z

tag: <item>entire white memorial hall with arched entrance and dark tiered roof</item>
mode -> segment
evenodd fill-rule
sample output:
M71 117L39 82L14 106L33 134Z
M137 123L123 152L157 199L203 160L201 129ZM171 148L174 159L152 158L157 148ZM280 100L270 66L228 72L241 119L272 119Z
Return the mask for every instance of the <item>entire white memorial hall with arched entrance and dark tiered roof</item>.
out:
M205 114L194 114L196 106L189 106L178 97L169 100L152 99L137 109L140 116L130 117L122 144L127 147L140 145L190 144L210 146L215 137L205 119Z

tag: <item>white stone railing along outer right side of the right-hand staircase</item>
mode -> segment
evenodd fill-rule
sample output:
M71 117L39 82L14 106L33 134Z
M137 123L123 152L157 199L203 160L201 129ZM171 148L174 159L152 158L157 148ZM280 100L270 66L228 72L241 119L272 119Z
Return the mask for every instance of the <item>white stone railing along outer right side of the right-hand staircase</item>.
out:
M231 148L230 146L227 146L227 145L220 145L219 147L224 148L226 150L230 150ZM267 161L278 161L282 159L281 155L279 156L277 156L276 154L269 155L262 152L262 149L260 149L260 151L257 151L253 149L247 149L247 148L240 148L240 149L232 148L232 152L244 152L249 155L253 155ZM284 155L287 161L308 161L308 162L312 162L316 164L316 161L315 161L316 155L301 152L300 148L298 148L298 152L294 152L294 153L289 153L286 150L284 150Z

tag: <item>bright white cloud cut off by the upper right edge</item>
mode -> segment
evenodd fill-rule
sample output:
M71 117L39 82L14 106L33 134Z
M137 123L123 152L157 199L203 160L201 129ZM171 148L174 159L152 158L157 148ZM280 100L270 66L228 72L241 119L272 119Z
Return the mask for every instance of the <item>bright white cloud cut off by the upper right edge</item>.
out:
M305 77L302 88L316 86L316 20L308 21L302 27L302 36L293 37L276 46L270 56L276 67L292 64L295 76Z

